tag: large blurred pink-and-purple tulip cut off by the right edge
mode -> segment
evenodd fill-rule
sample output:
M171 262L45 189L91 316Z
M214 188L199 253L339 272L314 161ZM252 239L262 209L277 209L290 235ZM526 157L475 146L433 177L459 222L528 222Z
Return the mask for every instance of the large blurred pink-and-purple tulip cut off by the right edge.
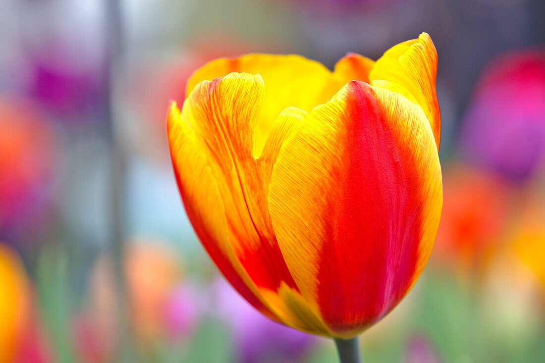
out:
M462 125L468 159L514 181L534 176L545 160L545 52L514 53L490 64Z

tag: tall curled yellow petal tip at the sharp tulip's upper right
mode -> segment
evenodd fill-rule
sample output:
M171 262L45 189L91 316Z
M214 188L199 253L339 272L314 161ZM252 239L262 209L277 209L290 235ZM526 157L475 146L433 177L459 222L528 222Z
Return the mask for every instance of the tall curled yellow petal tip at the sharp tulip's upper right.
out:
M387 50L371 70L369 80L374 86L386 87L414 99L426 114L439 149L441 118L435 93L436 76L437 51L429 35L422 33L418 39Z

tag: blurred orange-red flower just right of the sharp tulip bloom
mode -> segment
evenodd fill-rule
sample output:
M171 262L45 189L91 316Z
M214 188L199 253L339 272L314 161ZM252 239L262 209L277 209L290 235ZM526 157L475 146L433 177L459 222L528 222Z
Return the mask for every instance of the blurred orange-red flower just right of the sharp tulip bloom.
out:
M510 190L494 174L467 166L447 169L443 216L432 261L478 271L505 238Z

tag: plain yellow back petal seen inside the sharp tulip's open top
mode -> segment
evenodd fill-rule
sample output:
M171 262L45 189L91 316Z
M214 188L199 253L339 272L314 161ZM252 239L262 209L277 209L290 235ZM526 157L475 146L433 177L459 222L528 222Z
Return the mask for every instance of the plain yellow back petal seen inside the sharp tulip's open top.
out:
M231 72L259 74L265 93L258 112L254 155L261 155L269 130L285 108L293 106L311 111L324 104L343 86L324 65L301 56L250 54L237 59L216 59L197 70L187 83L187 94L204 80L213 80Z

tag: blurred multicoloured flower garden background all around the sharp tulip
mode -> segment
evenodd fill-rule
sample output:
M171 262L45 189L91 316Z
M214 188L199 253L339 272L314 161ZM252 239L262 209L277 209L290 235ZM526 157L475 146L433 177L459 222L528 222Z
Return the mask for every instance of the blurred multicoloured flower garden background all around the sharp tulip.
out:
M272 323L217 273L175 185L168 101L213 58L331 69L421 32L439 55L443 217L362 356L545 361L542 0L1 0L0 356L336 361L330 340Z

